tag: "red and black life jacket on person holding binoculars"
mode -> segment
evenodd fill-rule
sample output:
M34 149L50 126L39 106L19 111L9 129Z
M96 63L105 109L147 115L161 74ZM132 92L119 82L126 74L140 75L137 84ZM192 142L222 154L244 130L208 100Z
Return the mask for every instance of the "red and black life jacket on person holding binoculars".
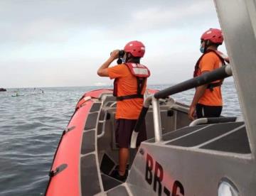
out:
M117 97L118 78L116 78L114 80L113 96L117 97L117 101L122 101L124 99L136 99L136 98L143 99L144 94L142 94L142 89L144 87L146 78L150 76L149 69L145 65L141 65L133 62L128 62L128 63L125 63L124 65L127 65L132 75L137 78L137 94L128 94L128 95Z

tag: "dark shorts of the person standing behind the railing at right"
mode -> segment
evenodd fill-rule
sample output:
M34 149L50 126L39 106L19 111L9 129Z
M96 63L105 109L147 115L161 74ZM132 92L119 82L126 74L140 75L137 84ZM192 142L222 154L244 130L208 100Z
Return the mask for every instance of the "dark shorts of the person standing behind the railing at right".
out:
M198 118L219 117L222 111L222 106L206 106L196 104L196 116Z

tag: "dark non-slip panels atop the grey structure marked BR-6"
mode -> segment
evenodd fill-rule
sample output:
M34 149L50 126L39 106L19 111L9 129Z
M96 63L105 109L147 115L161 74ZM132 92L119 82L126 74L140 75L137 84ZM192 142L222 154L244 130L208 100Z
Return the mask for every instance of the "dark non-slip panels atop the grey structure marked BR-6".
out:
M187 126L163 135L163 141L172 146L251 153L244 122ZM152 143L154 139L146 142Z

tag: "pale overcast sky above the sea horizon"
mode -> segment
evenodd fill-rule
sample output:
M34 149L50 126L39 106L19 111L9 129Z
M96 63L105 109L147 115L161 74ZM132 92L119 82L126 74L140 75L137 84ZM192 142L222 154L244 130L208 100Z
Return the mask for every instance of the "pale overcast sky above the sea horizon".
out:
M6 88L110 85L97 69L130 40L146 45L149 84L182 82L201 55L201 34L220 28L212 0L1 0L0 18Z

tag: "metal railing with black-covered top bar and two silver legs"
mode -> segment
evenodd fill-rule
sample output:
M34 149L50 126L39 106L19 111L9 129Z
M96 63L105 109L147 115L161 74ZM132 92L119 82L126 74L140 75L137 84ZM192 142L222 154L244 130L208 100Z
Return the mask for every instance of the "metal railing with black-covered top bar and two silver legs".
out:
M225 77L230 77L232 75L232 70L230 65L225 65L220 67L212 72L206 72L203 75L198 77L194 77L190 80L186 80L184 82L179 83L178 85L174 85L172 87L163 89L155 94L151 94L149 97L146 97L144 100L144 105L142 107L142 111L139 114L139 119L134 127L134 131L132 132L131 138L131 148L136 148L137 136L139 134L139 129L142 125L142 122L145 119L146 112L149 110L150 104L152 104L153 108L153 119L154 119L154 136L155 141L161 141L161 117L160 117L160 109L159 109L159 99L165 99L172 94L176 94L178 92L183 92L188 89L192 89L195 87L199 87L201 85L206 85L210 82L214 82L216 80L223 80Z

